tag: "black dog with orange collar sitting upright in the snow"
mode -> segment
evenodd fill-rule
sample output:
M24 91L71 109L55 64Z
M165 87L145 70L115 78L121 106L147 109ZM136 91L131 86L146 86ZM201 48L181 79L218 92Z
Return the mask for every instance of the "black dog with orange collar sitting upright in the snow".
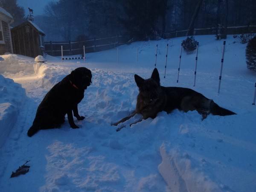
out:
M79 67L55 84L38 106L28 136L31 137L40 129L60 127L65 121L66 114L70 127L79 128L74 123L72 111L76 119L84 119L84 116L79 116L77 104L84 98L84 90L90 85L91 79L91 71Z

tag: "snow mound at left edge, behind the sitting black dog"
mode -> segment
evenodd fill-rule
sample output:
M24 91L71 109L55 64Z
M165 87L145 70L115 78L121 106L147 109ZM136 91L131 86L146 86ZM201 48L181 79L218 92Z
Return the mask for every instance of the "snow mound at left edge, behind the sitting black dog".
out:
M5 143L26 99L25 89L0 75L0 147Z

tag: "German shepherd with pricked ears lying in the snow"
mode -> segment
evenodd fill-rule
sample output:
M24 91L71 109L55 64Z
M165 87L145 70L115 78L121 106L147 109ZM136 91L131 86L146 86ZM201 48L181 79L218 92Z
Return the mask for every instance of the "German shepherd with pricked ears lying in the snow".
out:
M212 115L235 115L236 113L221 108L212 99L208 99L201 93L195 90L183 87L163 87L160 85L160 77L157 68L153 70L151 78L143 79L137 74L134 75L135 82L139 87L139 94L137 96L137 105L135 111L119 122L112 125L118 125L139 113L143 119L151 117L154 119L160 111L171 113L174 109L180 111L198 111L205 119L209 113ZM137 122L142 121L142 119ZM137 122L131 123L135 124ZM118 128L119 131L124 126Z

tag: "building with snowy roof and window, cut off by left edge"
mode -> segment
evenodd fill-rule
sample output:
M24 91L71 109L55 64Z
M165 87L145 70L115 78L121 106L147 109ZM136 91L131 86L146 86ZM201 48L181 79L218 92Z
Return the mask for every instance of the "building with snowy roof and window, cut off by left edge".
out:
M0 55L5 52L13 52L10 23L13 22L12 15L0 7Z

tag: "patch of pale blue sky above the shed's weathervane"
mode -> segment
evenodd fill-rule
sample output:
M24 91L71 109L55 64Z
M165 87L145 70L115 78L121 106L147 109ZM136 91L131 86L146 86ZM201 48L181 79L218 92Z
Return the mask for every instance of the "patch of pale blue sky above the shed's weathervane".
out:
M42 15L44 13L44 6L52 0L17 0L19 6L24 7L25 15L28 15L29 9L34 10L34 15ZM53 0L57 1L57 0Z

